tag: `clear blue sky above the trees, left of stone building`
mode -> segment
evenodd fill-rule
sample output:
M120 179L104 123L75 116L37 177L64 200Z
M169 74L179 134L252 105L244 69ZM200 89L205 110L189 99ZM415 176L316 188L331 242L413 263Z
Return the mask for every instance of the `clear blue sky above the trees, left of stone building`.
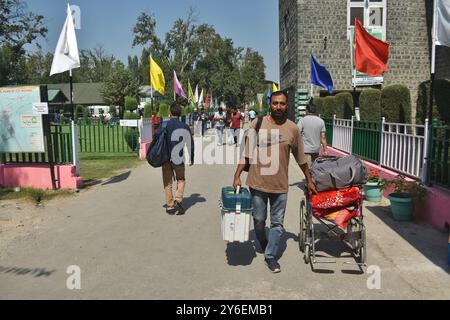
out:
M26 0L28 9L43 15L49 29L39 43L44 52L54 52L66 19L67 2ZM198 13L197 24L214 26L235 47L252 48L264 57L266 79L279 83L279 34L277 0L73 0L81 9L81 29L76 30L78 47L102 45L108 54L127 63L128 55L138 55L142 47L132 47L132 29L141 12L154 14L161 40L178 18L185 19L190 7Z

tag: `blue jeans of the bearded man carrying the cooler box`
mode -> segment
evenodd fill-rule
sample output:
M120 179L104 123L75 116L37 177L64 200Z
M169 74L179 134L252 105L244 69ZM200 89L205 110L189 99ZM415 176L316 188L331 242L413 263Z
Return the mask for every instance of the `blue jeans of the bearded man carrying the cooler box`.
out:
M261 247L267 245L264 252L266 259L275 259L278 245L284 233L284 213L286 212L287 193L275 194L250 189L253 201L253 222L256 238ZM267 204L270 201L269 239L266 237Z

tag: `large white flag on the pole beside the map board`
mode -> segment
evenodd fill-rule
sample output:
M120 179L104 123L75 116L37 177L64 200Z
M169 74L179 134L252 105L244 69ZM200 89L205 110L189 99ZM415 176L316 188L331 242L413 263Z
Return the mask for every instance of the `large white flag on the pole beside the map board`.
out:
M67 5L67 18L56 45L50 76L79 67L80 56L78 54L72 11L70 10L70 5Z

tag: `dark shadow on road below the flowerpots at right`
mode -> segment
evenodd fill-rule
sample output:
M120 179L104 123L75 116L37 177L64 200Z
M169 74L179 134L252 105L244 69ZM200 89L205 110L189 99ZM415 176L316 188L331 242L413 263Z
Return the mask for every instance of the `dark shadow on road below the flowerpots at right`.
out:
M391 216L389 207L367 205L367 208L389 228L420 251L428 260L450 274L450 268L447 265L448 242L446 234L420 222L395 221Z

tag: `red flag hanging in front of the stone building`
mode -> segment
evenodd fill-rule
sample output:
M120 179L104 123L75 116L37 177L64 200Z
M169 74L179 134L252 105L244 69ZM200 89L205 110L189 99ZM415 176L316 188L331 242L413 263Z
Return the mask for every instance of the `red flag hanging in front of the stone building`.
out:
M389 44L369 34L361 22L355 23L355 68L372 77L388 71Z

